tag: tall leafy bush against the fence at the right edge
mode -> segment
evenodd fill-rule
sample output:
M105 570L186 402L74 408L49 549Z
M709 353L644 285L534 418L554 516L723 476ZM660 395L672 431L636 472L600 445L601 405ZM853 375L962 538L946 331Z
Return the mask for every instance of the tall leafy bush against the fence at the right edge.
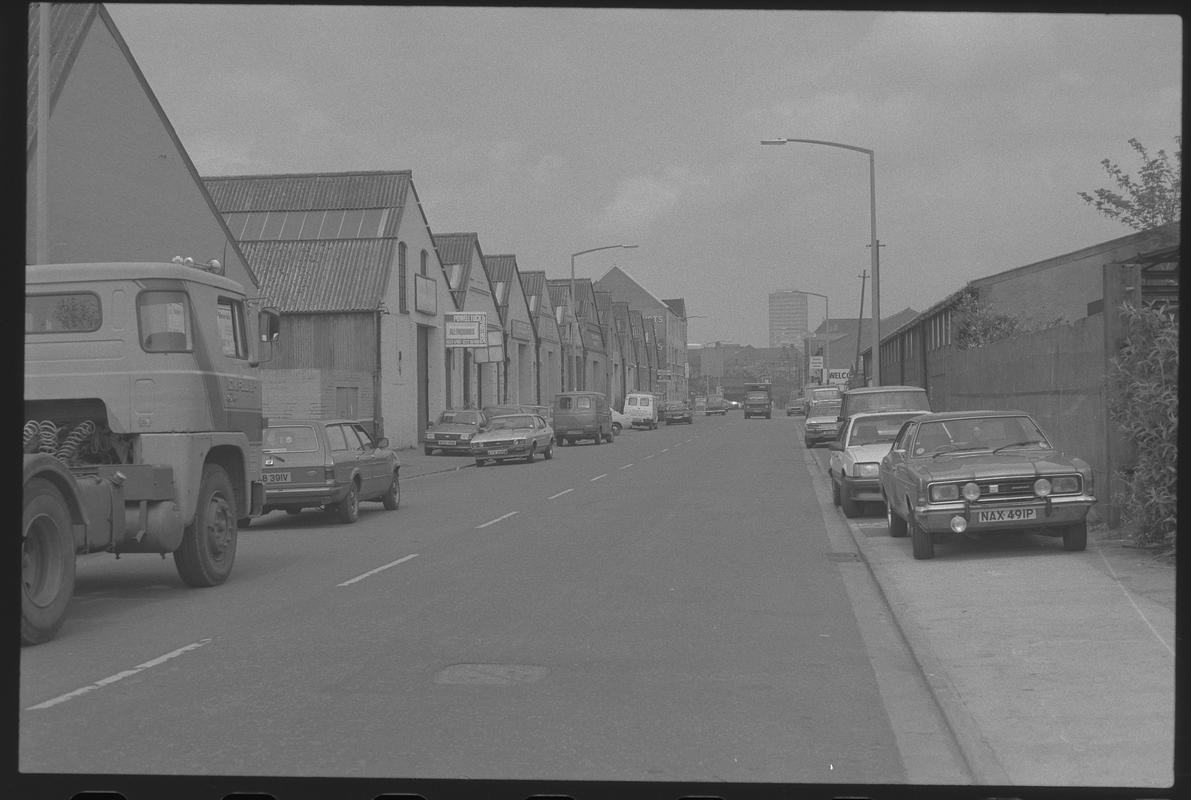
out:
M1124 304L1127 338L1112 360L1109 414L1136 450L1118 500L1139 544L1176 546L1179 324L1162 307Z

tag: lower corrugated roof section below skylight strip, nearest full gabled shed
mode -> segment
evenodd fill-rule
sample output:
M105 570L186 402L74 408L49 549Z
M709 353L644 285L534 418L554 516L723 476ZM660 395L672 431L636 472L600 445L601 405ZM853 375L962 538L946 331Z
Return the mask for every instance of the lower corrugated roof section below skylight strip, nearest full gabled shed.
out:
M374 311L385 296L393 239L242 242L267 302L287 313Z

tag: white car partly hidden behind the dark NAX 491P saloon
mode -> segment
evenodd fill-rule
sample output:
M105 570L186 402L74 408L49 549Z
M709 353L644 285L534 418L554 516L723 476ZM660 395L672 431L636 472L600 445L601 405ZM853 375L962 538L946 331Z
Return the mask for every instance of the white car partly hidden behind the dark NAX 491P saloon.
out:
M880 462L893 444L902 423L917 417L916 411L868 412L840 423L840 435L828 443L828 477L831 501L844 517L859 517L862 504L883 502Z

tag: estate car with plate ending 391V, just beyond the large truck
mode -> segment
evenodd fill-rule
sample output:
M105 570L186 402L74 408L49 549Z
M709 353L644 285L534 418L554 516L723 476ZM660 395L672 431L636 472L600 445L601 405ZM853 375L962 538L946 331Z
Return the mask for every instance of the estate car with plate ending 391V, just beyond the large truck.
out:
M323 508L354 523L361 500L378 500L389 511L401 504L397 454L356 420L272 420L262 450L266 512Z

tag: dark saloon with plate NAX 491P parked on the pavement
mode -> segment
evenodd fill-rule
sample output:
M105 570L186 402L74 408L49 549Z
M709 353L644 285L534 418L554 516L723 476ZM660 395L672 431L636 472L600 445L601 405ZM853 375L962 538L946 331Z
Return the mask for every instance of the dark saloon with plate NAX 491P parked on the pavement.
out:
M917 415L879 477L890 536L909 532L915 558L933 558L935 538L953 533L1034 530L1061 536L1066 550L1087 546L1092 469L1021 411Z

